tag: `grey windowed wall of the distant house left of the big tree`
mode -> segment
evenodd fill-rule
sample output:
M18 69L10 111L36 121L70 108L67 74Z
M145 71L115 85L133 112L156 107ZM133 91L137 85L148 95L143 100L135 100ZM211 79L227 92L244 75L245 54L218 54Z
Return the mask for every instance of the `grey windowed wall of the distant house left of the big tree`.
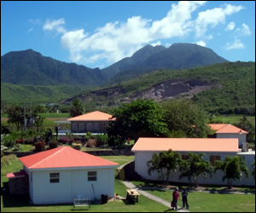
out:
M92 133L106 133L105 126L107 124L108 121L71 121L71 132L86 133L90 131ZM77 130L75 130L75 125L77 126Z

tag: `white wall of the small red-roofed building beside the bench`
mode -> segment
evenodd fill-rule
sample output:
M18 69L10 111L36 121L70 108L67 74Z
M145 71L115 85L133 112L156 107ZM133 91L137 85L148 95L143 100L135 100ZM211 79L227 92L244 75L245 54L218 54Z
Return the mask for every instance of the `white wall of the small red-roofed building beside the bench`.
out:
M97 171L96 181L88 181L88 171ZM60 182L50 183L50 173L60 173ZM32 185L34 204L73 203L78 194L90 200L101 199L102 193L113 197L114 169L33 171Z

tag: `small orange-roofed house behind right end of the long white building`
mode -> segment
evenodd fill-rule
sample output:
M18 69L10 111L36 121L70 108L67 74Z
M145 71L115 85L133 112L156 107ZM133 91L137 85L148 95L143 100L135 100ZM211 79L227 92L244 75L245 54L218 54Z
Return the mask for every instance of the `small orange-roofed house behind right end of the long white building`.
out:
M212 130L215 130L217 138L238 138L239 147L247 142L248 132L231 124L208 124Z

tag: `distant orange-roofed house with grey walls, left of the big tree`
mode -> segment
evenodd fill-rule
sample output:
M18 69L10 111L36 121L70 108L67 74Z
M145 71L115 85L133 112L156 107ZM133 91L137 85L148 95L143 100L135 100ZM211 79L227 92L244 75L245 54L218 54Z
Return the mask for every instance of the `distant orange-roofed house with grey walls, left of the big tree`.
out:
M71 122L71 132L73 133L106 133L106 125L110 120L115 120L112 115L95 111L80 115L74 118L68 118Z

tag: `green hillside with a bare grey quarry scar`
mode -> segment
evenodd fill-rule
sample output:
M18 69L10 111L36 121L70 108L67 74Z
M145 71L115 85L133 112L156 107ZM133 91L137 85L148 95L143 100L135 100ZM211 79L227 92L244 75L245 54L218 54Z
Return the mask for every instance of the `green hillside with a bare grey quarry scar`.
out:
M255 62L224 62L185 70L157 70L75 95L85 106L116 107L137 98L186 99L208 112L255 115Z

